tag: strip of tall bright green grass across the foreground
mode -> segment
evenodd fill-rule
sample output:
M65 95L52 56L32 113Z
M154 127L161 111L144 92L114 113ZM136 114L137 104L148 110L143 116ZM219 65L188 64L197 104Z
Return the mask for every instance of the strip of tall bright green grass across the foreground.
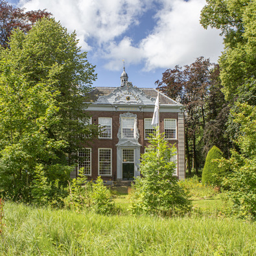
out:
M256 253L256 223L232 218L104 216L6 202L5 224L0 255Z

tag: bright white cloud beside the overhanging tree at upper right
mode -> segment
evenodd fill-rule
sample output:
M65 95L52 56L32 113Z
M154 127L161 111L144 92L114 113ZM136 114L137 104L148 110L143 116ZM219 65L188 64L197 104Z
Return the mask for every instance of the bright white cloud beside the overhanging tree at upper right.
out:
M204 0L163 1L154 31L141 41L146 70L191 64L199 56L216 62L222 50L218 30L204 30L199 23Z

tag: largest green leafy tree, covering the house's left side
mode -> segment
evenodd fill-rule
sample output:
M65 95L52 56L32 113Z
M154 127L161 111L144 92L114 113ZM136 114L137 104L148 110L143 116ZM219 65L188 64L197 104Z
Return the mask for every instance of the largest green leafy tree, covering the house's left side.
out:
M12 33L10 49L0 52L0 182L13 196L30 200L36 168L49 183L66 183L71 154L97 134L84 104L94 67L77 43L75 33L43 18L27 34Z

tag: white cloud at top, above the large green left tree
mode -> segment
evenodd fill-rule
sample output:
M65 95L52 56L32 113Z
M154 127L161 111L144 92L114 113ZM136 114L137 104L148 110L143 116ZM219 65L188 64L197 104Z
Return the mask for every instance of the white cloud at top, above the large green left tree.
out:
M27 10L47 8L69 32L76 30L80 40L93 38L99 45L112 41L131 25L139 23L139 15L152 0L20 0ZM90 47L82 45L85 50Z

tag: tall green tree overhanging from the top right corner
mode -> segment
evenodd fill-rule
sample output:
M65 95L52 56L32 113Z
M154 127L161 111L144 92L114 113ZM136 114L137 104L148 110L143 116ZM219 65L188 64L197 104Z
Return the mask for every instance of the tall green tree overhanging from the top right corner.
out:
M225 49L220 57L220 78L227 100L248 91L243 84L255 80L255 1L208 0L201 13L205 29L215 27L224 34ZM255 105L255 102L253 103Z

